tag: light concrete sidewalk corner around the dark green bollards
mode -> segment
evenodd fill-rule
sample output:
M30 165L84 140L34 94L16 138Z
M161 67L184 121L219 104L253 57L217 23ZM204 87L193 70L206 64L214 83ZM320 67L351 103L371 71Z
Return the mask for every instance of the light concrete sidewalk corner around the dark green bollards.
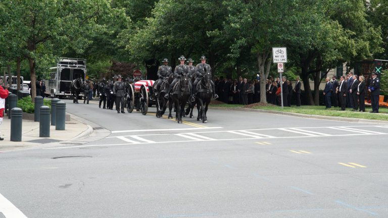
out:
M66 122L65 130L55 130L55 126L50 126L50 137L39 137L39 122L23 120L22 123L22 141L10 141L11 119L5 116L3 125L0 126L0 135L4 138L0 141L0 152L26 149L42 144L56 143L66 145L66 141L82 139L93 133L93 128L86 123L79 121L78 117L70 115L70 121Z

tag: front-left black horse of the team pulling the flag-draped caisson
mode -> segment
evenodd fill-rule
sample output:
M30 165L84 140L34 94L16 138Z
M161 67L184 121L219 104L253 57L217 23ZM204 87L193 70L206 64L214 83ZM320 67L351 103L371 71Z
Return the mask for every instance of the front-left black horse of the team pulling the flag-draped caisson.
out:
M187 77L187 75L183 74L183 76L179 79L179 82L175 84L171 91L171 102L169 103L170 115L172 103L174 103L176 112L175 120L178 121L178 123L182 123L182 114L184 113L184 106L186 105L186 101L190 97L188 81L189 78Z

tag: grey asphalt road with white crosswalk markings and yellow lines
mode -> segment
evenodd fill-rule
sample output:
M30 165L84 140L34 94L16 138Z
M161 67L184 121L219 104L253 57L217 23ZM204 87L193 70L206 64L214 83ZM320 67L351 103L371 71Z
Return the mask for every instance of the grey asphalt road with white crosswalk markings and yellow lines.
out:
M95 101L67 111L111 135L0 153L3 217L388 217L388 126L212 108L207 124L178 124Z

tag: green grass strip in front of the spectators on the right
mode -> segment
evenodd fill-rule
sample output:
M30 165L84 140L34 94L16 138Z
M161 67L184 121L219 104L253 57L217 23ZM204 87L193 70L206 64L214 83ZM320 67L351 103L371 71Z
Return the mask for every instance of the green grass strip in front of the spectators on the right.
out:
M219 106L219 107L242 107L244 105L239 104L214 104L209 106ZM379 114L369 113L372 108L366 107L366 112L353 112L351 108L346 108L346 111L341 111L341 107L331 107L330 109L325 109L325 106L309 106L302 105L300 107L291 106L283 107L276 106L273 104L268 104L267 106L254 106L254 109L268 110L268 111L279 111L279 112L290 112L296 114L306 114L306 115L321 115L321 116L330 116L330 117L345 117L345 118L357 118L357 119L366 119L366 120L381 120L388 121L388 108L379 107Z

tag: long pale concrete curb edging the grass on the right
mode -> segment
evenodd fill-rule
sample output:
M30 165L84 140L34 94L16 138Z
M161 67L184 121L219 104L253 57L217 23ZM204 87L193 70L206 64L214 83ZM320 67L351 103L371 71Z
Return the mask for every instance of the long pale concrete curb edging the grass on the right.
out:
M305 114L297 114L297 113L291 113L291 112L278 112L278 111L269 111L269 110L244 108L244 107L212 106L210 108L214 108L216 110L245 111L245 112L263 113L263 114L276 114L276 115L292 116L292 117L299 117L299 118L342 121L342 122L351 122L351 123L360 123L360 124L388 125L388 121L367 120L367 119L360 119L360 118L329 117L329 116L322 116L322 115L305 115Z

